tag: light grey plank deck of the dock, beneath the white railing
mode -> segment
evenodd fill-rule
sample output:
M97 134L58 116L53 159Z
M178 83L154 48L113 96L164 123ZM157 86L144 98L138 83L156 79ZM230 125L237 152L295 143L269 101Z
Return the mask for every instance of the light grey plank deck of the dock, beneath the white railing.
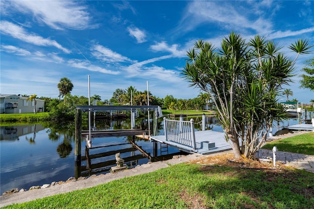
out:
M176 142L166 141L165 135L151 136L150 138L152 141L157 141L189 153L210 154L232 149L225 140L225 134L223 132L212 130L195 131L196 149ZM204 148L201 146L202 142L215 143L214 148Z

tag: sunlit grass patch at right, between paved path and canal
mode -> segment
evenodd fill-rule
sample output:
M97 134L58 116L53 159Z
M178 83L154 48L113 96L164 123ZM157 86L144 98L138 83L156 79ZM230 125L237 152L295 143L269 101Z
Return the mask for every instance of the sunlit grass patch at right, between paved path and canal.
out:
M262 149L271 150L274 146L279 151L314 155L314 132L268 142Z

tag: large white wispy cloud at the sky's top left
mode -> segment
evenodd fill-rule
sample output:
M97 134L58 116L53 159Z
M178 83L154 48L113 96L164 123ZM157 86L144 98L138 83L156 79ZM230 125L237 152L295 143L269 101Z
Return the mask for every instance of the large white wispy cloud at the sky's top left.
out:
M53 29L62 30L63 28L73 30L84 30L95 28L97 25L91 24L88 8L79 1L9 1L10 10L16 9L24 14L31 13L34 19L44 23Z

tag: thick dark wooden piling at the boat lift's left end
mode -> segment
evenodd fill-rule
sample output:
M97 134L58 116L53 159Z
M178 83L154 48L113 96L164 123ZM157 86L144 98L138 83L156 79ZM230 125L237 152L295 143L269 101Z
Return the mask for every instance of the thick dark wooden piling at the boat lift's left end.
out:
M75 166L81 163L81 142L82 142L82 110L75 109Z

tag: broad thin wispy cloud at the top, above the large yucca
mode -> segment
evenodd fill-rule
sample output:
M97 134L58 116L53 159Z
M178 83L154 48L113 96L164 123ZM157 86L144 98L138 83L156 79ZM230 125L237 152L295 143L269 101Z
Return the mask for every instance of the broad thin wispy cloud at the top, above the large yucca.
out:
M270 30L272 23L263 14L256 15L252 8L235 4L236 1L192 1L176 30L190 31L204 23L227 30L255 30L257 33ZM261 5L269 7L263 2Z

